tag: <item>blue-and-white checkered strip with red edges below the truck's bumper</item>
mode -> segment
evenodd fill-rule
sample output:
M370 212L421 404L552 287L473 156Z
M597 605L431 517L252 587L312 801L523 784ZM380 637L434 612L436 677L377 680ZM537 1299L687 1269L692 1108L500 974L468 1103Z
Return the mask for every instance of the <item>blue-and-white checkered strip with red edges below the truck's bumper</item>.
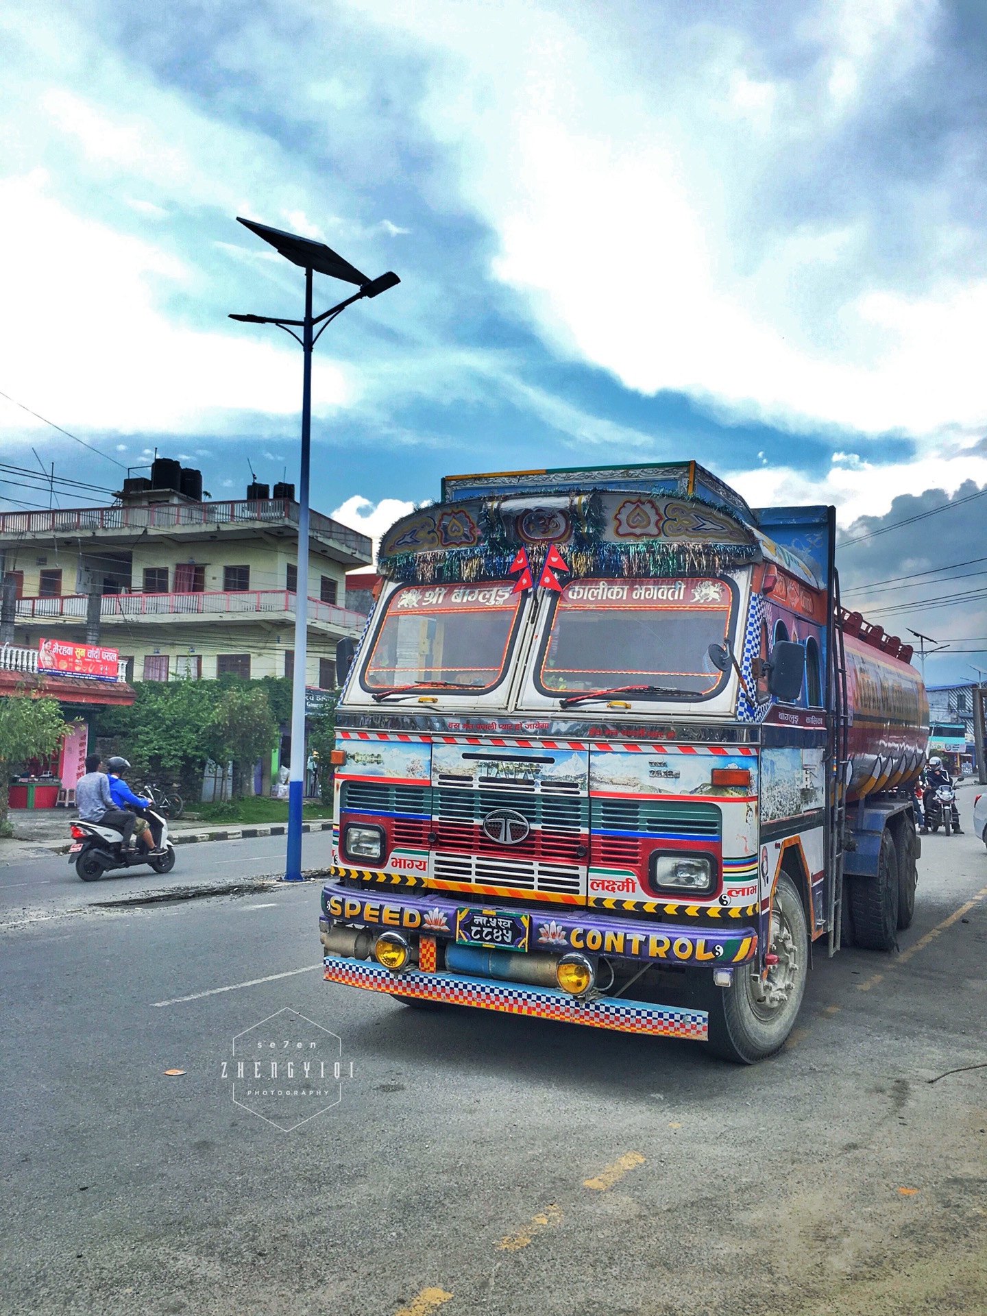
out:
M557 1019L566 1024L587 1024L621 1033L684 1037L694 1042L704 1042L708 1036L707 1012L679 1005L616 999L578 1001L557 987L529 987L525 983L494 982L467 974L422 974L409 970L395 976L380 965L343 959L341 955L325 957L325 978L347 987L365 987L453 1005L478 1005L480 1009L499 1009L508 1015Z

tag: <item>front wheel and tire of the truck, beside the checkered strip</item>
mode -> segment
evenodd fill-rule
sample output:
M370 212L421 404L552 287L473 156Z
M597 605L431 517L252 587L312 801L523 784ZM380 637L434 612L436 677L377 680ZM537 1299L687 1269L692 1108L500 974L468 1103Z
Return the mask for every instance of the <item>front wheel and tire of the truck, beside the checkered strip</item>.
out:
M805 992L809 934L801 899L786 873L775 887L769 953L778 955L778 963L763 983L751 976L753 963L740 965L729 987L711 983L705 996L709 1049L736 1065L754 1065L784 1046Z

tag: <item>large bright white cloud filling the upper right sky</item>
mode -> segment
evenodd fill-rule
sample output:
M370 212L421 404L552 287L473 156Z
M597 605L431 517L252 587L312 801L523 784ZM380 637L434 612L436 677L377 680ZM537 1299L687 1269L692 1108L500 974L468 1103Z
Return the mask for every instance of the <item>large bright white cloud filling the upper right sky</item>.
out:
M929 63L933 0L782 12L775 70L729 8L350 3L432 51L424 118L497 234L494 271L562 351L733 418L911 434L987 420L987 279L944 255L945 166L888 205L894 234L875 232L879 182L829 190L830 158ZM800 217L786 184L845 213ZM917 251L896 267L903 237Z

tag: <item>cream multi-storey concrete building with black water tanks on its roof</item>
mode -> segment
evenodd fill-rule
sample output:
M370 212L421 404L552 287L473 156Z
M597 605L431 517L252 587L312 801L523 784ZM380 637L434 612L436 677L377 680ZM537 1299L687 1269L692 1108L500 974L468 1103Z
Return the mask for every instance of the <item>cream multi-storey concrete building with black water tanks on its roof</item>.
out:
M299 505L292 486L246 492L204 501L197 471L159 459L112 507L0 512L0 570L17 594L9 641L99 641L128 680L291 676ZM361 634L346 572L371 559L367 536L311 513L309 687L332 688L337 640Z

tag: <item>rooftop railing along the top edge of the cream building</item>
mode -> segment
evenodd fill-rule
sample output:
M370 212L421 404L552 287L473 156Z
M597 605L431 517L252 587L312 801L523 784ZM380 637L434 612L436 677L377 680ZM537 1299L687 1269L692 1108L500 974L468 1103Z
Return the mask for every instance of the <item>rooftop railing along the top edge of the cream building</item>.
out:
M72 534L80 530L174 530L213 525L263 525L290 521L297 525L299 504L274 497L229 503L154 503L137 507L82 507L50 512L0 512L0 536ZM312 534L332 540L355 558L371 562L372 545L366 534L341 525L321 512L309 512Z

